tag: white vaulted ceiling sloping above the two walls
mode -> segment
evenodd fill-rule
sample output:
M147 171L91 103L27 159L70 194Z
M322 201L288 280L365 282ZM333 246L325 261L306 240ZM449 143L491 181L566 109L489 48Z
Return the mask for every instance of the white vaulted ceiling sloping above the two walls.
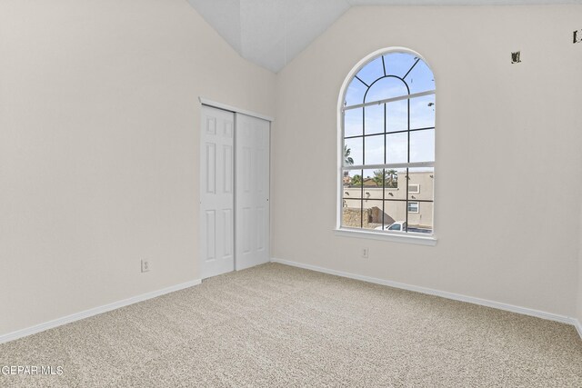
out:
M543 5L582 0L188 0L247 60L274 73L356 5Z

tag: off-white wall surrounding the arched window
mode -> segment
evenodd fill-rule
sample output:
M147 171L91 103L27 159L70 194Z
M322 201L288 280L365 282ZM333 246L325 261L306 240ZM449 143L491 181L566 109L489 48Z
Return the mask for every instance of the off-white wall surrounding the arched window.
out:
M277 75L273 256L574 316L580 20L580 5L348 11ZM436 247L333 233L340 86L390 46L416 50L436 76Z

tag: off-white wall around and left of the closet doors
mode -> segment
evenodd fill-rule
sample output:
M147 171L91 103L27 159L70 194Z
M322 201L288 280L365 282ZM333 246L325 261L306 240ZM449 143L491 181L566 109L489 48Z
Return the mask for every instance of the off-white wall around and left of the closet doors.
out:
M184 0L0 2L0 334L198 278L197 98L274 91Z

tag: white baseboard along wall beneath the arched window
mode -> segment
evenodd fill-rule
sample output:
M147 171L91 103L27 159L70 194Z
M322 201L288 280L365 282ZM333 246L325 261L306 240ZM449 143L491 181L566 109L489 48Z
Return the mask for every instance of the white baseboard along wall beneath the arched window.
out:
M489 301L487 299L480 299L480 298L476 298L473 296L462 295L460 293L448 293L446 291L433 290L432 288L420 287L417 285L392 282L390 280L377 279L375 277L364 276L361 274L349 274L349 273L345 273L342 271L330 270L327 268L318 267L316 265L302 264L302 263L292 262L289 260L282 260L282 259L273 258L273 259L271 259L271 262L291 265L294 267L304 268L307 270L312 270L312 271L316 271L316 272L320 272L320 273L324 273L324 274L335 274L336 276L342 276L342 277L347 277L350 279L361 280L361 281L367 282L367 283L383 284L383 285L387 285L387 286L394 287L394 288L400 288L403 290L414 291L416 293L426 293L429 295L435 295L435 296L440 296L442 298L452 299L454 301L479 304L482 306L493 307L493 308L496 308L499 310L505 310L505 311L508 311L511 313L521 313L524 315L535 316L537 318L547 319L550 321L573 324L574 326L576 326L577 331L580 334L580 337L582 338L582 326L580 325L580 322L576 318L571 318L571 317L568 317L566 315L559 315L557 313L546 313L543 311L534 310L534 309L530 309L527 307L520 307L520 306L516 306L513 304Z

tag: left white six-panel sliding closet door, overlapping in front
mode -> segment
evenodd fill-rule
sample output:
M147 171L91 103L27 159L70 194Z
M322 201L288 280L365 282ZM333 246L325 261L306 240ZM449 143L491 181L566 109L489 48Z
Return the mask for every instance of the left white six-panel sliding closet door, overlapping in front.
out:
M235 269L235 114L202 106L200 254L206 279Z

